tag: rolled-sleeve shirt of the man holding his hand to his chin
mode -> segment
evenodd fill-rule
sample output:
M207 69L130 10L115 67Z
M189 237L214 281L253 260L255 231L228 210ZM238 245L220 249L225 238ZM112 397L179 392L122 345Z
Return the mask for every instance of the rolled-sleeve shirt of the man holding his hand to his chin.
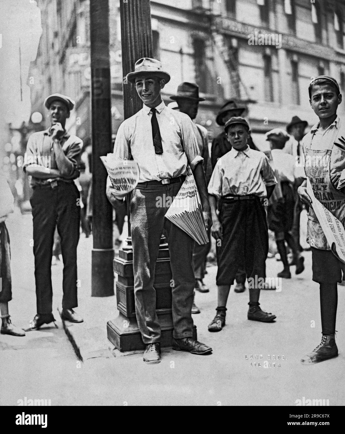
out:
M79 164L83 142L76 135L69 135L65 133L60 139L62 151L66 157L71 161L70 173L65 176L52 179L40 179L32 177L30 184L32 187L36 185L47 185L51 181L64 181L73 182L74 179L79 177ZM52 135L49 128L44 131L35 132L30 135L26 145L26 154L23 161L23 170L31 164L39 165L49 169L58 169L56 164L55 152L53 148Z

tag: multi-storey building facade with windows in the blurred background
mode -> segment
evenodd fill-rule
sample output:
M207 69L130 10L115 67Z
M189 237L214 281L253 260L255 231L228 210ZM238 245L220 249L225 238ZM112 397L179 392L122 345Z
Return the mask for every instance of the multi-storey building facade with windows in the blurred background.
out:
M89 0L39 0L43 33L29 84L32 111L46 95L76 100L68 128L90 140ZM113 133L123 120L119 1L110 5ZM196 82L206 99L197 122L210 137L221 129L215 116L226 100L247 106L254 142L285 128L293 115L316 122L308 96L312 77L331 75L345 93L345 1L343 0L158 0L151 1L154 56L170 72L162 95ZM340 105L339 113L345 111ZM71 113L71 115L72 115Z

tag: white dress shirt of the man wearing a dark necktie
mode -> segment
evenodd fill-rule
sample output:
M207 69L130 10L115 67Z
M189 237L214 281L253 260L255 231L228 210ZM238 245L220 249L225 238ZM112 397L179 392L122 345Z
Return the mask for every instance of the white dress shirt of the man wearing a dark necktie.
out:
M139 182L177 178L186 173L187 163L193 170L199 161L203 161L191 118L169 109L164 101L155 109L161 133L162 154L154 152L152 113L145 104L138 113L122 122L115 139L114 154L119 158L128 159L130 146L131 155L140 169Z

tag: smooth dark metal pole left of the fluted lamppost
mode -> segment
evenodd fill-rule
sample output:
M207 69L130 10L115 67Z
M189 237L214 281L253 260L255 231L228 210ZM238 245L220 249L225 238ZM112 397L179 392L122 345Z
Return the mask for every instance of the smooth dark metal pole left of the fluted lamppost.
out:
M91 295L114 295L112 206L105 196L107 172L101 155L112 152L108 0L90 0L92 117Z

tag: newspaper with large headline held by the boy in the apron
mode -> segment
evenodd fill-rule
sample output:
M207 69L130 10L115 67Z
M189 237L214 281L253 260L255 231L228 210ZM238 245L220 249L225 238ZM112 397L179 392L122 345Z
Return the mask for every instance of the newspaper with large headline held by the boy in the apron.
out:
M307 193L332 252L345 263L345 229L342 223L316 199L309 178L307 178Z

